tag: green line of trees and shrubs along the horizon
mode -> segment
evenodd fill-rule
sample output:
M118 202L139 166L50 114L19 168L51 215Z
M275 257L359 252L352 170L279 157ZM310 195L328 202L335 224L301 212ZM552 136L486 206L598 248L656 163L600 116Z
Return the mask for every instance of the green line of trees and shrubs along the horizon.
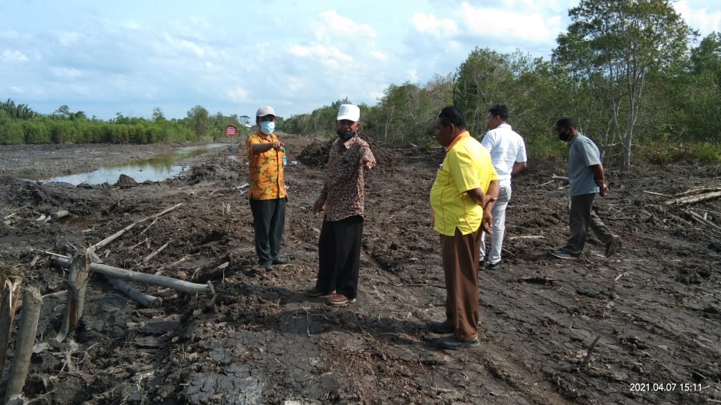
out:
M479 137L488 108L500 103L508 105L509 123L526 138L534 159L564 156L553 125L571 115L606 161L721 163L720 33L699 41L671 0L581 0L569 15L571 24L557 37L550 60L521 50L475 48L452 74L425 84L392 84L376 105L361 103L363 132L381 143L435 146L435 118L454 104ZM276 128L332 137L337 108L345 102L352 100L277 117ZM243 137L245 123L201 106L180 120L167 120L156 107L149 120L118 113L101 121L67 106L38 115L27 104L0 102L0 144L207 142L225 138L226 125L236 125Z

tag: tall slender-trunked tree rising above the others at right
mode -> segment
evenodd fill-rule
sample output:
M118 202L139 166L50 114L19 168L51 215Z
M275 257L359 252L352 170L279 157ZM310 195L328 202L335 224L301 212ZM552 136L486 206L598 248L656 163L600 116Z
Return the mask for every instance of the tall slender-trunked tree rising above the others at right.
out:
M629 166L647 76L679 63L695 33L671 0L581 0L569 16L554 61L602 99L622 144L623 166Z

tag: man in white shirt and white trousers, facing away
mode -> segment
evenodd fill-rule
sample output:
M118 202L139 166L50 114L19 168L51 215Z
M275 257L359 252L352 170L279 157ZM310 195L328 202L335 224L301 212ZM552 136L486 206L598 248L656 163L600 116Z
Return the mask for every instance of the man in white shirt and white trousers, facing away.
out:
M505 104L495 104L488 109L486 125L489 130L481 141L481 145L491 153L491 160L498 173L500 186L498 200L492 210L493 233L491 234L491 249L487 257L488 270L500 270L503 267L500 252L503 248L505 231L505 208L508 206L511 195L510 179L526 169L526 143L506 121L508 121L508 107ZM483 267L483 259L486 257L485 236L484 232L481 236L480 267Z

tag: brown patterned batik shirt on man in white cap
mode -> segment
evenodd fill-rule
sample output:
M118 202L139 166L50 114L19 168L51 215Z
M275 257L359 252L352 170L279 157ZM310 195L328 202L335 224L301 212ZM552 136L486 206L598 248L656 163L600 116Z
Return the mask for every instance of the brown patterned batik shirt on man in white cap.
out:
M325 202L325 220L340 221L353 215L363 216L363 166L361 158L376 164L371 147L358 135L343 142L336 138L328 155L328 177L320 192Z

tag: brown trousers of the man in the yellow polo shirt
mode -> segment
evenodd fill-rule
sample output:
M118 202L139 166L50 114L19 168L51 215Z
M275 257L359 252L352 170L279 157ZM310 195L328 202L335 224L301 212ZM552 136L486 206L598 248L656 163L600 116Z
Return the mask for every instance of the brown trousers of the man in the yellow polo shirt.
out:
M462 235L441 235L441 260L446 275L446 323L456 340L478 337L478 260L481 228Z

